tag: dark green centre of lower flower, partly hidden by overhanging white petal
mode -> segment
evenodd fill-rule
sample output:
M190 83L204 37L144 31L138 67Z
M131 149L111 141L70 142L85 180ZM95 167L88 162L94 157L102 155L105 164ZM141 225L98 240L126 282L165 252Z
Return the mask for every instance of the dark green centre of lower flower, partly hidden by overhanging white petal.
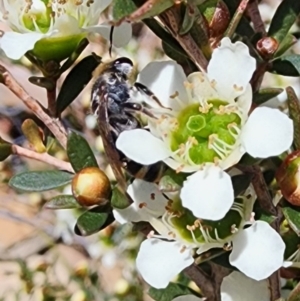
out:
M169 208L169 223L187 243L209 243L222 241L238 231L243 216L244 203L236 198L224 218L218 221L200 220L192 212L182 207L180 201L174 201Z

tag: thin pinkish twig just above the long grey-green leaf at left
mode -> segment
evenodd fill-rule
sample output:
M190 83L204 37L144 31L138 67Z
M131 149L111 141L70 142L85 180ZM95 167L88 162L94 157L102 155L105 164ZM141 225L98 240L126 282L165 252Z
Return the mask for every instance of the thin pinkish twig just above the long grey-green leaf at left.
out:
M57 159L55 157L50 156L48 153L36 153L35 151L32 151L30 149L18 146L16 144L12 145L12 152L15 155L26 157L29 159L34 159L40 162L47 163L49 165L52 165L56 168L59 168L61 170L66 170L69 172L74 172L71 164L66 161L62 161L60 159Z

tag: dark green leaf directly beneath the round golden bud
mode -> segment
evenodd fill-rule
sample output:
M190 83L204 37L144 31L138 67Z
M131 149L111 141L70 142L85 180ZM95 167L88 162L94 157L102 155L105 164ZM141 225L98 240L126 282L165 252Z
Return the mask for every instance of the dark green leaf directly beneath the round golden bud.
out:
M74 231L81 236L91 235L106 228L114 220L114 216L108 207L98 206L79 216Z

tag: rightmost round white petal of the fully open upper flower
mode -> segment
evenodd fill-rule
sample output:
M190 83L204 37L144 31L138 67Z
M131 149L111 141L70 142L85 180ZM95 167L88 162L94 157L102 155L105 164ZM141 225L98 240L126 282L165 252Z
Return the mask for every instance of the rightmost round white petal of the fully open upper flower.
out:
M241 139L252 157L278 156L293 142L293 122L277 109L259 107L243 127Z

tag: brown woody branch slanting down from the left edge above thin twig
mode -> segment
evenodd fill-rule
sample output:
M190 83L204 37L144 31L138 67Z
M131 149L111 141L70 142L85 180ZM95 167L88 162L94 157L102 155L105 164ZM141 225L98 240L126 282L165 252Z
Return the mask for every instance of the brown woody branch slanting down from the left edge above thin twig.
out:
M53 133L62 147L66 148L67 133L63 125L58 119L51 118L39 104L39 102L30 96L24 88L15 80L15 78L0 65L0 80L10 91L12 91L23 103L29 108Z

